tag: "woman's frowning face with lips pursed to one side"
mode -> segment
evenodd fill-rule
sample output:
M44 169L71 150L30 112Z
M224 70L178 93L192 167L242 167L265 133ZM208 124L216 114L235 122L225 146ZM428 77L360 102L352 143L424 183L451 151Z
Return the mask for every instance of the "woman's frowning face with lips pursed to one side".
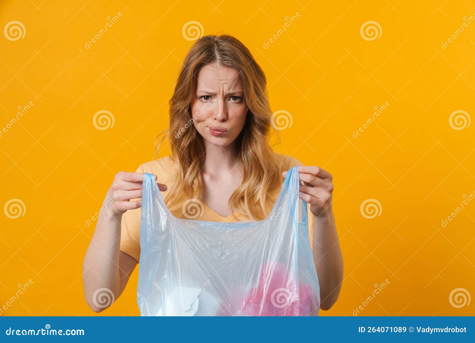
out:
M193 124L204 138L205 147L226 147L246 123L247 105L236 69L216 64L203 66L198 73L196 94L191 102Z

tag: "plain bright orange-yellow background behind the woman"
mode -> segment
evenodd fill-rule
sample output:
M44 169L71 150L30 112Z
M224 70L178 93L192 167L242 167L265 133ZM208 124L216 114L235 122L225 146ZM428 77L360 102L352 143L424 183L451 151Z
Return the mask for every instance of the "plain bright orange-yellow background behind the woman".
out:
M441 226L475 190L475 125L449 125L454 111L475 114L475 22L441 47L474 15L475 1L129 2L0 2L1 29L12 20L26 28L16 41L0 34L0 128L18 106L34 103L0 137L1 206L13 198L25 204L23 216L1 216L0 306L33 280L2 315L96 315L83 295L94 230L85 222L115 173L153 158L193 44L182 34L191 20L205 35L240 39L264 69L272 110L293 119L276 151L334 176L344 281L337 303L320 315L351 316L385 279L360 315L475 315L475 304L449 302L458 287L475 296L475 203ZM372 41L360 34L369 20L382 30ZM113 127L95 128L100 110L113 113ZM380 216L367 219L360 206L371 198ZM139 315L137 271L97 315Z

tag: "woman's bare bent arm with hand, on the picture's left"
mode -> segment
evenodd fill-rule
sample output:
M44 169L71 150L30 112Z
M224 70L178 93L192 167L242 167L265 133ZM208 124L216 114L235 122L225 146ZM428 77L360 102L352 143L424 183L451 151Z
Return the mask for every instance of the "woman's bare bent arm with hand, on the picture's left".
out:
M83 263L85 300L95 312L114 303L137 265L137 260L120 251L120 238L123 213L142 205L142 200L130 201L142 198L142 180L142 173L119 172L104 199Z

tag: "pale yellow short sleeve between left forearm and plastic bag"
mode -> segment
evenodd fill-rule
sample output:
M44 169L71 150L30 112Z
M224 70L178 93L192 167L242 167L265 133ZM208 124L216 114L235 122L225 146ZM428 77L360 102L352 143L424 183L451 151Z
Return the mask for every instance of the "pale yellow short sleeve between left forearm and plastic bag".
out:
M135 171L136 173L143 173L143 167L140 166ZM132 199L135 201L139 199ZM121 222L121 238L120 250L127 255L132 256L135 260L140 260L140 216L141 207L128 210L122 215Z

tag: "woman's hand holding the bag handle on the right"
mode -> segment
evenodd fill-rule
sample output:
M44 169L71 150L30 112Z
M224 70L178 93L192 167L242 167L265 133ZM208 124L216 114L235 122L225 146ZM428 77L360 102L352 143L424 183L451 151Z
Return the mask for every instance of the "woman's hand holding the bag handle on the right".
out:
M285 177L287 172L283 172ZM299 166L299 198L310 204L310 212L318 217L332 205L333 176L317 166ZM331 208L328 212L331 211Z

